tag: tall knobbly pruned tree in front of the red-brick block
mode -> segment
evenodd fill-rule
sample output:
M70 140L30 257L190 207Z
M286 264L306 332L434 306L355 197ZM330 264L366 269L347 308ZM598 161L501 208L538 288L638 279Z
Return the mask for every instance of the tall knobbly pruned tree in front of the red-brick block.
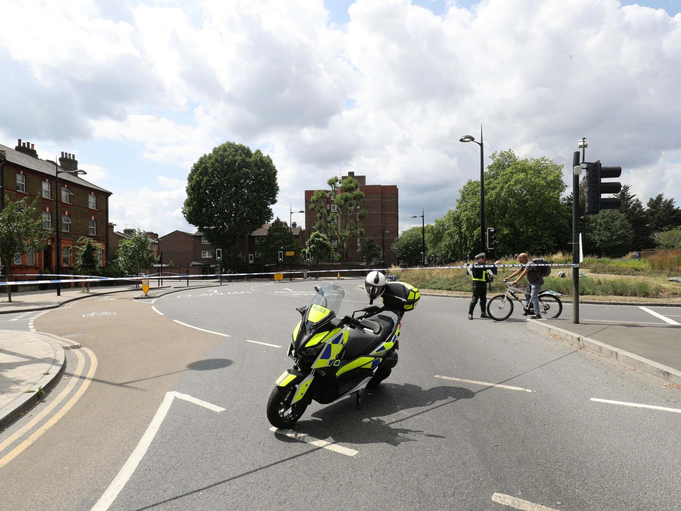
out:
M338 176L329 178L326 183L331 191L317 190L310 198L310 209L317 213L315 228L327 234L331 239L338 240L340 261L347 260L347 243L353 236L362 236L364 228L362 220L366 218L366 209L360 209L364 202L364 192L360 190L360 183L348 176L340 181ZM327 200L336 206L336 211L327 208Z

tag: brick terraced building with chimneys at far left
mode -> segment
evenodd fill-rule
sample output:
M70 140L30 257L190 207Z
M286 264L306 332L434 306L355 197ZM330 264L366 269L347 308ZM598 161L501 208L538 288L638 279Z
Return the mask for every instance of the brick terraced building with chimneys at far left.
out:
M43 227L52 229L48 245L39 253L22 254L12 262L12 273L54 273L57 268L57 235L61 238L61 271L74 273L72 247L80 236L87 236L101 245L99 260L106 265L108 247L109 196L111 192L70 174L59 174L59 190L55 179L54 161L39 159L34 144L21 142L12 149L0 144L5 151L5 164L0 181L4 201L35 199L42 194L40 208ZM78 160L73 155L61 153L59 170L78 170ZM54 199L59 198L59 216L54 208ZM7 264L6 261L3 264Z

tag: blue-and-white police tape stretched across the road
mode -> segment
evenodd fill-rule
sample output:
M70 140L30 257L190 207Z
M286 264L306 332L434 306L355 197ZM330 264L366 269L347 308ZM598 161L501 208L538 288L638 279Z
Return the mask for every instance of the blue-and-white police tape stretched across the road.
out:
M4 281L0 282L0 285L35 285L37 283L39 284L59 284L59 283L75 283L75 282L104 282L104 281L137 281L137 280L142 280L142 279L148 279L148 280L159 280L159 279L164 279L164 280L170 280L170 279L188 279L188 278L195 278L195 277L255 277L257 275L293 275L294 273L347 273L347 272L353 272L353 271L361 271L361 272L367 272L367 271L388 271L390 272L391 270L396 270L396 271L404 271L404 270L468 270L471 268L473 265L472 264L463 264L460 266L413 266L411 268L353 268L350 270L287 270L287 271L272 271L272 272L259 272L259 273L209 273L209 274L194 274L194 275L163 275L159 277L153 277L151 275L142 275L138 277L97 277L96 275L71 275L67 273L43 273L43 274L19 274L19 275L46 275L48 277L85 277L82 279L46 279L46 280L29 280L29 281ZM477 264L475 268L524 268L526 266L563 266L563 267L570 267L574 266L573 264L568 264L568 263L563 263L563 264L554 264L554 263L547 263L547 264ZM579 268L579 265L576 266ZM158 275L158 274L153 274L153 275Z

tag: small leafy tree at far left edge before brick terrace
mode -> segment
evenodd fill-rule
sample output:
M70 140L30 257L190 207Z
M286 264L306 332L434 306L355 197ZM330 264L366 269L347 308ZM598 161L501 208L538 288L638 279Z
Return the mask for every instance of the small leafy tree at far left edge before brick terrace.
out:
M39 200L40 196L37 196L29 204L26 198L14 202L7 199L7 205L0 213L0 258L5 264L7 280L12 275L14 258L17 255L39 251L52 234L51 230L42 228ZM7 301L12 302L12 287L9 285Z

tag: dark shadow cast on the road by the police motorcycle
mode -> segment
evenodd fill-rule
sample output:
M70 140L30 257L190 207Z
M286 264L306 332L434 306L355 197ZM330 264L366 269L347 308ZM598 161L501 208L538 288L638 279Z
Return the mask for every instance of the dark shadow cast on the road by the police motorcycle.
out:
M357 409L352 395L314 412L312 416L319 420L300 420L295 429L315 438L331 437L334 442L350 444L398 446L402 442L416 442L419 437L445 438L396 424L474 396L475 392L462 387L438 386L424 390L413 384L383 382L363 392L362 410ZM413 413L408 412L409 409L414 409Z

